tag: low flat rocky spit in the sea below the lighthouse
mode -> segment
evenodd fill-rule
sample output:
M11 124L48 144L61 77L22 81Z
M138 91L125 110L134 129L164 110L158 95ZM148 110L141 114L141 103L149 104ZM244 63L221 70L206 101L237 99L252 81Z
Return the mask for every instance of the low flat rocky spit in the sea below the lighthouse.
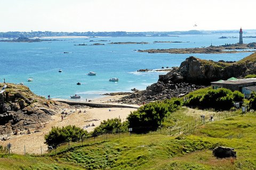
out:
M240 52L254 52L254 51L236 51L242 49L256 49L256 43L249 44L225 44L221 46L209 46L204 48L169 48L169 49L150 49L137 50L138 52L147 53L171 53L171 54L219 54L219 53L240 53ZM232 50L232 51L227 51Z

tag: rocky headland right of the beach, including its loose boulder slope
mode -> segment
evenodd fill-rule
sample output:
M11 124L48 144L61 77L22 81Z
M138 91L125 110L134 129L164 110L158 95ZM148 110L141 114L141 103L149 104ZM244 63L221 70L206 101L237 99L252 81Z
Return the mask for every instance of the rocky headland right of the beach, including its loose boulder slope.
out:
M250 74L256 74L256 53L237 62L215 62L190 56L180 67L173 67L166 75L159 75L157 83L146 90L124 96L118 102L138 104L180 97L220 79L243 78Z

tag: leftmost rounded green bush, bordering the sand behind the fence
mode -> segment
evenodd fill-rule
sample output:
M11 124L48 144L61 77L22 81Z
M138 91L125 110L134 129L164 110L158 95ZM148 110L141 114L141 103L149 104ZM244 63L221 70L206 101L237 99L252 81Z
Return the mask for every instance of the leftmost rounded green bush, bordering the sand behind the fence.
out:
M49 134L44 136L44 139L47 145L57 147L60 143L70 140L75 142L86 135L88 135L88 132L84 131L84 129L68 125L66 127L52 127Z

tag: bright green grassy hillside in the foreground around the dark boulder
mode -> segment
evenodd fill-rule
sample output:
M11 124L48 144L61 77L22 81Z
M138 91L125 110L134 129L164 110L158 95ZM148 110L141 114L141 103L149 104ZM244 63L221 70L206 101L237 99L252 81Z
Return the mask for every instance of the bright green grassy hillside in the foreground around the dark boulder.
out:
M194 113L194 115L192 115ZM184 125L200 114L219 113L182 108L165 120ZM223 112L221 112L223 114ZM197 115L197 116L196 116ZM116 135L96 143L67 145L40 156L0 156L0 169L255 169L256 112L197 126L181 135ZM74 143L73 146L76 144ZM217 145L235 148L237 159L216 159Z

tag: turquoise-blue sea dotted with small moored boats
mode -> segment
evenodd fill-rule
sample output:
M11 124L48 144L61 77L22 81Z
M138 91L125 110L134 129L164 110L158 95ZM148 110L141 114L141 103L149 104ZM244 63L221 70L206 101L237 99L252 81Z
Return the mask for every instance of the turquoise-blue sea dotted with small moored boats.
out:
M189 56L206 60L238 61L251 52L233 54L169 54L141 53L137 50L151 48L189 48L233 44L239 34L180 35L178 37L94 37L94 38L45 38L59 41L39 43L0 42L0 82L23 83L37 95L70 99L80 95L81 101L103 97L111 92L131 92L132 88L145 90L156 83L162 67L177 67ZM248 33L244 36L255 36ZM96 42L104 40L105 42ZM90 42L94 41L94 42ZM154 43L155 41L179 41L182 43ZM244 38L244 43L256 42L256 38ZM111 42L148 42L149 44L109 44ZM77 44L87 44L77 46ZM92 45L102 43L105 45ZM242 51L242 50L241 50ZM62 72L59 72L59 69ZM139 69L153 69L138 72ZM89 71L97 73L88 76ZM32 77L33 81L28 82ZM118 82L109 82L112 77ZM81 85L77 85L81 82ZM77 100L77 99L74 99Z

